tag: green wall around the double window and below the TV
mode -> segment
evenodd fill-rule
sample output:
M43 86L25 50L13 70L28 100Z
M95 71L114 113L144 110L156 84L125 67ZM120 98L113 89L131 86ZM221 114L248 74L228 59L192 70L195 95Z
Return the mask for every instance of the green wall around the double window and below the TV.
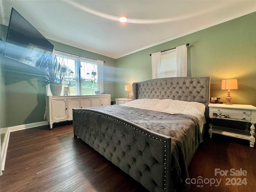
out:
M1 26L1 37L5 37L6 26ZM3 38L5 40L5 38ZM72 46L49 40L54 48L74 54L105 61L104 92L115 97L115 60ZM1 127L10 127L44 121L46 106L45 74L43 71L16 62L1 55Z

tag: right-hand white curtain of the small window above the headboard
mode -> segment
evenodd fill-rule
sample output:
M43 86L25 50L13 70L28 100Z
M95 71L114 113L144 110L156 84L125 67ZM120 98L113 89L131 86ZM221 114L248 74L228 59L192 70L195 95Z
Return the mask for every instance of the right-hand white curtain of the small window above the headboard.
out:
M188 49L186 45L176 47L177 77L188 76Z

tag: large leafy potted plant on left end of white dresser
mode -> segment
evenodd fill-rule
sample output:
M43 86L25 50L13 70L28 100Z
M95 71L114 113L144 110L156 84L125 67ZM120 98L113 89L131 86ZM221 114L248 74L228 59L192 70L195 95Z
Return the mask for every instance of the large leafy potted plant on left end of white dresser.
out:
M44 85L50 84L52 95L60 95L62 92L62 80L65 78L64 72L66 68L60 66L56 55L52 60L52 56L42 57L38 62L44 66L46 74L46 82Z

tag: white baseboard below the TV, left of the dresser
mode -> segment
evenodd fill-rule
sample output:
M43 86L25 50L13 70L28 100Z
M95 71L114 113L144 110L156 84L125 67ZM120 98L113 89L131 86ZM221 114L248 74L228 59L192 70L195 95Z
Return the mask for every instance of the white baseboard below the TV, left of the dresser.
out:
M24 125L17 125L17 126L12 126L12 127L7 128L6 134L4 136L3 145L1 147L0 176L2 175L2 172L4 171L7 148L8 148L9 138L10 138L10 132L20 131L20 130L24 130L24 129L30 129L30 128L44 126L44 125L48 125L48 124L49 124L48 121L42 121L42 122L36 122L36 123L30 123L30 124L24 124Z

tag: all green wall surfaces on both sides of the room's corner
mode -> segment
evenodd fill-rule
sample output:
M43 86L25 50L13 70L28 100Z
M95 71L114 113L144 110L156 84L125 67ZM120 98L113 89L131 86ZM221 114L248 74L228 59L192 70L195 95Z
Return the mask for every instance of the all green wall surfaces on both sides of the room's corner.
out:
M1 26L1 37L6 31L7 27ZM256 12L118 59L50 42L58 50L106 61L104 92L111 94L112 100L126 97L126 84L151 79L149 54L189 43L188 76L211 76L211 96L223 102L226 90L220 89L221 80L237 78L232 102L256 106ZM44 75L2 56L0 66L0 127L44 121Z

